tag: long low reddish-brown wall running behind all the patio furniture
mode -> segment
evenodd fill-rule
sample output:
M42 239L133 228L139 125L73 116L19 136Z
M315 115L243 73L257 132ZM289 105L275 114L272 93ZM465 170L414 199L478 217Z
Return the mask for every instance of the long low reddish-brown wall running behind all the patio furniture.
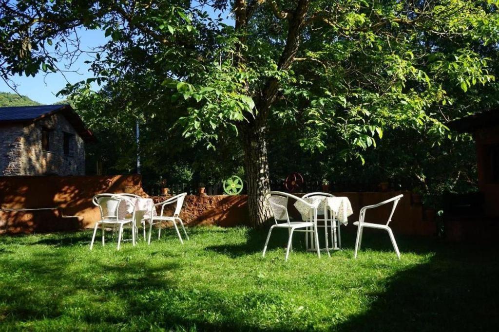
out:
M93 227L99 211L91 199L102 192L130 192L143 197L140 175L116 176L5 176L0 177L0 234L52 232ZM337 192L350 199L354 214L349 227L358 218L362 206L378 203L400 192ZM432 235L434 222L423 220L423 206L411 203L411 193L402 192L391 223L397 233ZM166 197L153 197L160 202ZM291 215L299 217L289 202ZM43 211L11 211L8 209L54 208ZM167 212L173 213L173 205ZM386 222L390 206L367 213L366 221ZM248 197L192 196L186 197L181 218L188 225L223 227L248 225Z

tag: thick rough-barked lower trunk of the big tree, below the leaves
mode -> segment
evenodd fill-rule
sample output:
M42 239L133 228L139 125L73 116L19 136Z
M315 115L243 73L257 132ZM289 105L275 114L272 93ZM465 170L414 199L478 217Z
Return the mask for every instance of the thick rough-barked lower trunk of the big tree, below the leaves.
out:
M246 179L248 181L250 224L255 227L270 218L270 211L264 195L270 190L265 126L253 123L245 128L242 134Z

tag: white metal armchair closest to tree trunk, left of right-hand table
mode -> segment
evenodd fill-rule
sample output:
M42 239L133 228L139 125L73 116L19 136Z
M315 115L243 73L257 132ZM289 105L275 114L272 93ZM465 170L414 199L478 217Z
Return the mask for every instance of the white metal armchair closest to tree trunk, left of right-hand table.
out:
M290 221L289 220L289 214L287 213L287 201L288 198L293 198L296 200L301 201L302 203L308 205L310 207L310 212L309 212L309 221ZM293 232L305 232L305 233L313 233L314 236L313 238L315 239L315 247L317 249L317 256L320 258L320 250L319 250L319 242L318 242L318 236L317 236L317 209L307 203L305 200L301 199L300 197L296 197L294 195L291 195L287 192L282 192L282 191L269 191L265 194L265 199L267 200L269 206L270 206L270 211L273 214L275 225L270 226L270 229L268 230L268 235L267 239L265 240L265 245L263 247L263 254L262 257L265 257L265 252L267 251L267 245L268 245L268 240L270 239L270 234L272 233L272 229L274 228L287 228L288 229L288 236L289 239L287 241L287 247L286 247L286 257L284 258L284 261L287 261L287 258L289 257L289 250L292 248L292 238L293 238ZM279 221L285 221L279 223ZM300 229L304 228L304 229ZM310 229L311 228L311 229ZM308 241L308 237L306 236L308 234L305 234L305 241Z

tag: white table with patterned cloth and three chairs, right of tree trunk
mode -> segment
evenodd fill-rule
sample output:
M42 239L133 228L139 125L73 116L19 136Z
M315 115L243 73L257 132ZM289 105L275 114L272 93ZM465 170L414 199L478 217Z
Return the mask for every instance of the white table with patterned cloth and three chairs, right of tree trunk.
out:
M395 237L393 236L393 232L388 224L392 220L395 208L403 196L404 195L401 194L378 204L364 206L360 210L359 221L353 223L357 226L354 258L357 258L357 252L359 251L362 243L363 229L376 228L386 230L388 232L393 248L395 249L397 257L400 259L400 252L397 247L397 243L395 242ZM300 212L303 221L292 221L289 217L289 198L295 200L293 205L296 207L298 212ZM263 257L265 257L270 234L274 228L288 229L288 242L286 247L286 256L284 258L285 261L287 261L289 257L289 252L292 251L292 237L294 232L305 233L306 249L309 251L315 251L319 257L321 251L327 252L328 256L330 256L330 250L341 249L340 225L346 225L348 223L347 217L353 214L352 206L347 197L335 197L334 195L325 192L311 192L300 198L287 192L269 191L266 193L265 199L270 206L270 211L272 212L275 224L270 226L268 231L267 239L265 241L265 245L263 246ZM389 203L393 203L393 206L386 224L365 221L367 210ZM324 228L325 248L319 247L319 228ZM332 247L329 247L329 240L331 240Z

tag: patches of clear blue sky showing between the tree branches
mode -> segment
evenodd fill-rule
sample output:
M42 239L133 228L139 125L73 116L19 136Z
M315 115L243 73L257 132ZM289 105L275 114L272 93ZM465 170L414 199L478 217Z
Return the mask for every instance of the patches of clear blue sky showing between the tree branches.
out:
M206 7L205 10L211 15L216 15L211 9ZM229 13L225 13L227 16ZM218 13L217 13L218 15ZM225 23L232 24L232 18L228 17L225 19ZM100 30L84 30L80 29L78 35L81 39L81 49L91 50L93 47L102 45L106 42L104 37L104 32ZM90 65L84 63L86 60L91 60L91 57L86 54L82 54L78 60L73 63L70 70L75 70L76 72L64 73L64 76L70 83L76 83L92 77L92 73L88 71ZM58 63L59 68L63 68L67 62L62 61ZM37 101L42 104L53 104L64 98L56 97L58 91L60 91L67 84L66 79L61 73L51 73L45 75L44 73L38 74L35 77L25 77L25 76L14 76L12 80L17 84L17 92L21 95L27 96L30 99ZM0 80L0 92L13 92L2 80Z

